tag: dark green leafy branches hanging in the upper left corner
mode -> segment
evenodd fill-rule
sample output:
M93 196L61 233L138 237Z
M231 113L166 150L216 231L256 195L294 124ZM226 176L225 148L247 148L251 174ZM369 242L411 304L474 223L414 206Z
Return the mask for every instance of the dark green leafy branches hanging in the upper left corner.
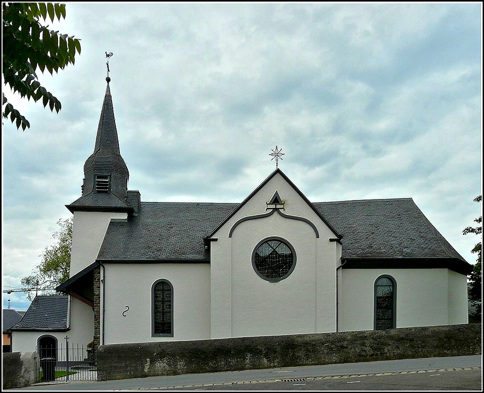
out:
M45 69L53 72L74 64L76 51L81 54L80 40L74 36L49 30L39 22L49 18L53 23L65 18L65 4L59 3L2 3L2 73L3 82L22 98L42 99L44 108L49 105L51 112L58 113L60 101L40 85L35 71ZM17 129L30 128L28 120L8 103L2 93L2 116L10 117Z

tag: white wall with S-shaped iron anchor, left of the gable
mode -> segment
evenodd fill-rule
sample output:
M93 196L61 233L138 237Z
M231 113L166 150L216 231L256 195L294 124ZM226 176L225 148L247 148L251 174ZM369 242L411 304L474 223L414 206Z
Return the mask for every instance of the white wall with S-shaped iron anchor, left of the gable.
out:
M210 338L208 263L105 264L101 279L101 343ZM173 286L173 337L151 337L151 287L159 279Z

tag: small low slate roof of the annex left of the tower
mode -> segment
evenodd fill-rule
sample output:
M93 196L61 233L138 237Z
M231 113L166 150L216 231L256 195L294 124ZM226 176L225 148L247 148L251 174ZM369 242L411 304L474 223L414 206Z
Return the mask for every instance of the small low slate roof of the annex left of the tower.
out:
M24 317L9 330L67 331L68 296L36 296Z

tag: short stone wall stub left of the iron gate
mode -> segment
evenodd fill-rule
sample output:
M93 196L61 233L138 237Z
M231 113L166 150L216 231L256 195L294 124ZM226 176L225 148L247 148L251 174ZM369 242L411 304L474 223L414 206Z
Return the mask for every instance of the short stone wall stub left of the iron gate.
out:
M39 355L37 352L5 352L1 371L2 390L39 382Z

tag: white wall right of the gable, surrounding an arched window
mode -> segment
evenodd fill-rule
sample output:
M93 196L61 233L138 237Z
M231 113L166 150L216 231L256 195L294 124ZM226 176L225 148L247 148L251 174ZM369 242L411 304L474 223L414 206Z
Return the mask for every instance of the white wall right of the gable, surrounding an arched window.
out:
M342 269L339 331L373 329L374 282L383 274L397 283L397 328L467 323L463 275L447 269Z

